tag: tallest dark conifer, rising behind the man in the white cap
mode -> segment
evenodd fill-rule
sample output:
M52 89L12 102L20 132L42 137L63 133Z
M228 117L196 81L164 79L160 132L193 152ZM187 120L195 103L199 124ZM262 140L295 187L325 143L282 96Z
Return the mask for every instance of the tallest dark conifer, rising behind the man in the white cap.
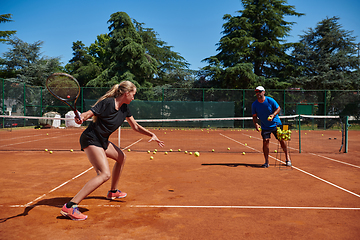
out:
M214 86L252 88L257 84L284 87L292 66L286 54L291 43L283 43L294 22L285 16L302 16L285 0L242 0L239 16L224 15L224 36L219 53L204 59L203 72ZM279 82L280 81L280 82Z

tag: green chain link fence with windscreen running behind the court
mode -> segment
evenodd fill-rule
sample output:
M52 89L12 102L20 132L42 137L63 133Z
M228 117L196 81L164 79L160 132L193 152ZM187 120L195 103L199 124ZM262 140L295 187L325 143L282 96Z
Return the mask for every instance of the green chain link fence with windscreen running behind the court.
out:
M77 100L80 112L90 107L108 88L81 88ZM301 90L266 89L281 106L281 115L339 115L360 120L360 90ZM251 104L256 100L253 89L137 89L131 103L136 119L178 119L205 117L249 117ZM63 117L69 108L55 99L45 87L0 79L0 114L14 116L43 116L58 112Z

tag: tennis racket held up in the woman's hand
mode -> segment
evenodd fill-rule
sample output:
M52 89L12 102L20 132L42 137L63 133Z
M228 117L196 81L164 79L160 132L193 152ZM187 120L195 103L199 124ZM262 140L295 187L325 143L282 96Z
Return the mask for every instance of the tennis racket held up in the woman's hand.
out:
M74 111L77 119L81 119L76 110L80 85L73 76L66 73L53 73L46 79L46 88L54 97L66 103Z

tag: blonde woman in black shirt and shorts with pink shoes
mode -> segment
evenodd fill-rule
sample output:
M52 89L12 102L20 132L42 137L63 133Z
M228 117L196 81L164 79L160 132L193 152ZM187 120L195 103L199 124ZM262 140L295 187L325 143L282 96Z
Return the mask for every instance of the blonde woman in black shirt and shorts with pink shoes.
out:
M81 150L85 151L93 165L97 176L88 181L76 196L62 207L60 213L63 216L72 220L87 218L79 211L78 204L110 179L111 172L107 158L116 161L112 170L111 189L107 194L107 199L126 197L126 193L117 189L126 156L120 148L109 141L109 136L121 126L125 119L133 130L151 137L149 142L156 141L160 147L164 146L163 141L160 141L154 133L140 126L131 115L128 104L134 100L135 94L135 85L130 81L123 81L114 85L89 111L82 113L81 119L75 118L75 122L81 124L93 117L93 121L81 134L80 145Z

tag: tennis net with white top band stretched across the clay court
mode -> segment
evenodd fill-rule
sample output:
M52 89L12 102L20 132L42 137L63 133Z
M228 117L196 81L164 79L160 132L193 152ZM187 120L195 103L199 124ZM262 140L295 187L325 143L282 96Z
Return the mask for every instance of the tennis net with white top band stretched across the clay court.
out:
M344 123L338 116L291 115L280 116L280 119L292 131L289 142L292 152L338 153L346 142ZM254 128L252 117L142 119L137 122L165 141L166 147L160 150L156 143L148 143L149 138L135 133L127 122L110 136L110 141L122 149L137 152L155 149L163 152L178 152L179 149L181 152L220 153L262 151L262 138ZM87 124L77 126L73 119L60 116L0 115L0 150L80 150L79 137ZM271 143L277 144L273 136L272 139Z

